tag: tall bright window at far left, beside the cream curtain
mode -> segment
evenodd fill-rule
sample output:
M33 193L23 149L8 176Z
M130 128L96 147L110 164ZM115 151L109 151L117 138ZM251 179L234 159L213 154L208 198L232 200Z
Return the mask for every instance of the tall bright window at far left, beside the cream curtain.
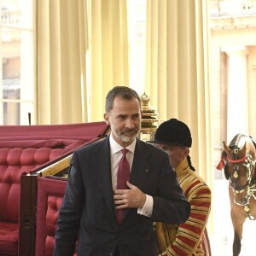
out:
M32 0L1 0L0 125L28 125L34 113Z

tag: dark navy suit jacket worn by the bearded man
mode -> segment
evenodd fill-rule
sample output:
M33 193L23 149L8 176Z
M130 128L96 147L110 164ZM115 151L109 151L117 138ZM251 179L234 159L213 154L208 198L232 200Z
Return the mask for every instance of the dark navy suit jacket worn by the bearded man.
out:
M190 204L177 182L168 154L137 139L130 182L154 199L150 218L127 209L117 224L113 203L109 138L73 153L63 197L54 256L155 256L153 222L180 224L189 218Z

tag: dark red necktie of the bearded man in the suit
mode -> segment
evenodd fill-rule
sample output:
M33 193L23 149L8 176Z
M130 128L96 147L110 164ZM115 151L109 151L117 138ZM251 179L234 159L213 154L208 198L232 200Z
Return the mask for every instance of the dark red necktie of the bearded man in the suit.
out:
M129 180L130 177L130 167L128 160L126 159L126 153L129 150L126 148L122 149L123 157L119 162L118 168L118 178L117 178L117 189L127 189L126 181ZM116 219L118 223L121 223L123 219L123 209L116 210Z

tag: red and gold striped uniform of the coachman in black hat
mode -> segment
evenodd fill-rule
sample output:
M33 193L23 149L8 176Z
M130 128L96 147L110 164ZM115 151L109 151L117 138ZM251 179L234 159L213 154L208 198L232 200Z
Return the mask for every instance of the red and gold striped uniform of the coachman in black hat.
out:
M187 159L184 159L175 170L184 195L191 204L191 213L184 224L156 223L159 251L161 255L166 256L203 256L205 252L201 246L201 235L210 213L211 190L201 177L190 170Z

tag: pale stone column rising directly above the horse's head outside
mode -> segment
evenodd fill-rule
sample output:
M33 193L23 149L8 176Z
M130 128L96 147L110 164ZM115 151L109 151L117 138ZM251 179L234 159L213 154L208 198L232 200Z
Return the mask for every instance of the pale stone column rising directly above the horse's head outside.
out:
M227 142L237 133L248 132L247 48L222 48L227 59Z

